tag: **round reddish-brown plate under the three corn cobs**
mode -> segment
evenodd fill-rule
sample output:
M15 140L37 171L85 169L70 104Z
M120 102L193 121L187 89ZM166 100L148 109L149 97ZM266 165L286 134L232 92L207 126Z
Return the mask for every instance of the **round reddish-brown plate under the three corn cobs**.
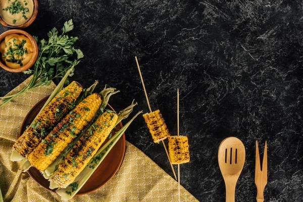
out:
M25 130L25 127L35 119L37 114L39 113L40 109L43 107L44 103L46 102L48 96L41 99L26 115L21 128L20 128L20 135ZM108 108L113 110L114 109L108 105ZM122 127L122 124L117 126L119 130ZM106 140L106 142L108 139ZM125 153L125 134L119 139L110 153L106 156L100 166L95 170L95 172L91 175L91 177L87 180L87 182L83 185L83 187L79 190L76 195L82 195L89 192L92 192L99 187L103 186L107 183L117 172L120 168L123 157ZM31 167L28 171L28 174L36 181L38 184L43 186L45 189L55 192L56 189L49 188L49 181L46 180L43 175L34 167Z

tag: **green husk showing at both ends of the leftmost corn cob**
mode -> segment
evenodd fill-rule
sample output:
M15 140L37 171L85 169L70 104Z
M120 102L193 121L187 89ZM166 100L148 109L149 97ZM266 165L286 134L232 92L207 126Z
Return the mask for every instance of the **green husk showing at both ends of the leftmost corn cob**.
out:
M66 81L68 75L70 74L70 72L73 69L74 69L74 67L71 67L71 69L66 72L66 74L61 79L61 81L59 82L59 84L57 85L57 87L54 89L54 91L52 92L52 94L49 95L48 99L46 100L46 103L43 105L43 107L41 108L41 110L39 111L39 113L37 114L37 116L49 104L49 102L51 102L51 100L63 89L64 82ZM37 118L37 116L35 117L35 119ZM12 154L11 154L11 161L21 161L21 160L23 161L24 159L27 159L27 158L22 157L15 149L13 149Z

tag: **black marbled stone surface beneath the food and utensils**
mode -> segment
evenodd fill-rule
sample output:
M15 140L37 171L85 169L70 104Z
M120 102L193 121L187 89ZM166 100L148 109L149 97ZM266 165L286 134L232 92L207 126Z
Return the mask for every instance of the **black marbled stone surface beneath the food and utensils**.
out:
M303 201L301 1L41 0L25 30L46 37L71 18L85 55L72 79L121 90L110 101L117 111L136 99L136 110L148 112L134 56L151 108L161 110L171 134L180 88L180 132L190 142L181 184L199 201L225 201L217 150L228 136L246 148L236 201L255 201L256 140L260 150L268 141L265 201ZM0 95L27 78L2 69L0 75ZM126 139L172 176L142 117Z

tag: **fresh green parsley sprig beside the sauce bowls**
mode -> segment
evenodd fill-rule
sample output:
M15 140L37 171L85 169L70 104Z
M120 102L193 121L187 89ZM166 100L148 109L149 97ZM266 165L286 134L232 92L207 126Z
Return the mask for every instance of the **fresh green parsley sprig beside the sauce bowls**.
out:
M37 41L39 54L33 66L33 69L24 71L24 74L32 74L31 81L16 94L0 97L3 100L1 106L6 105L14 97L34 89L39 86L48 86L55 78L62 78L68 70L73 66L79 64L83 58L80 49L74 47L78 37L68 36L67 32L73 30L74 24L72 20L64 23L62 33L59 34L57 28L53 28L47 33L48 40L42 39L38 42L38 38L34 37ZM69 76L74 74L72 70ZM68 83L68 79L67 79Z

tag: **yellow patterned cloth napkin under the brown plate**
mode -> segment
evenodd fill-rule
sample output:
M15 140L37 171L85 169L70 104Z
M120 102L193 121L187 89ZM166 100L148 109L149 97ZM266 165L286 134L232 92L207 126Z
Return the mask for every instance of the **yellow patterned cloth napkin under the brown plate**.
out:
M22 89L30 79L10 93ZM57 193L44 189L27 173L21 172L18 163L9 160L26 114L41 98L51 94L55 87L52 83L36 88L0 108L0 188L4 201L61 201ZM126 141L124 160L114 177L103 187L89 194L75 196L70 201L178 201L178 183ZM181 187L181 201L198 200Z

